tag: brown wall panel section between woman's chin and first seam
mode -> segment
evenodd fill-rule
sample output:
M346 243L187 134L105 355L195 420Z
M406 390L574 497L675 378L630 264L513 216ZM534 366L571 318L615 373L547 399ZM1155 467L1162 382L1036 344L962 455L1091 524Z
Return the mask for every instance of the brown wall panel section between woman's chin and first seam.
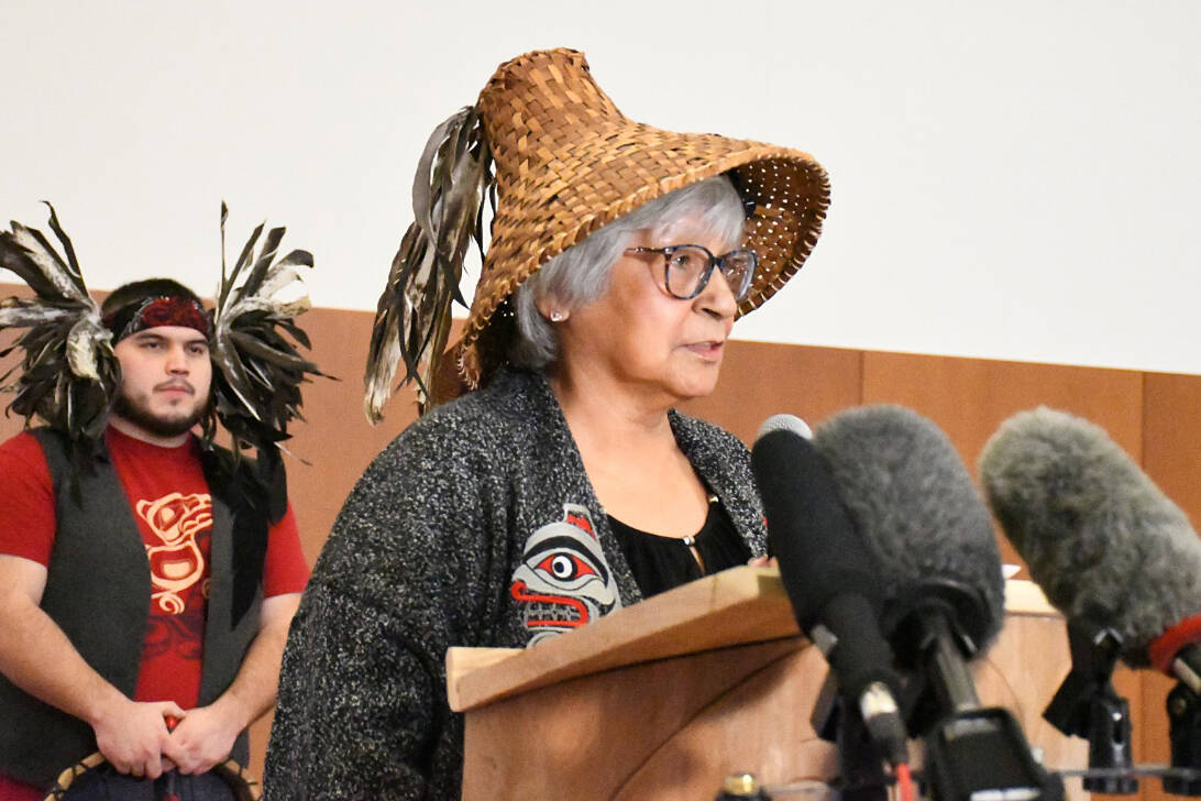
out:
M813 424L859 404L860 351L741 341L729 348L713 394L680 408L747 444L772 414L796 414Z

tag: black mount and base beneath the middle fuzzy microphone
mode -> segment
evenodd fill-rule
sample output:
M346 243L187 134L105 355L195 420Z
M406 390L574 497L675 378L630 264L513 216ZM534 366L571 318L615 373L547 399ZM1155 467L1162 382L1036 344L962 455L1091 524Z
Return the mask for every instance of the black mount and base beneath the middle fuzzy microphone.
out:
M967 659L985 627L966 624L987 620L978 594L932 581L897 611L894 648L914 669L907 723L910 733L925 736L926 781L934 801L1062 801L1063 779L1034 761L1017 719L1008 710L980 705Z

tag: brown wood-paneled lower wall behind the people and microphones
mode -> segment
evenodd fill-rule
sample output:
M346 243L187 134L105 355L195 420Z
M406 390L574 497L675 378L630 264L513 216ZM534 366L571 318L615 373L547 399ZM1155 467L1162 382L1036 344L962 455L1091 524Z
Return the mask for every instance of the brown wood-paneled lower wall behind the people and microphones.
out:
M17 289L0 285L0 297ZM416 408L405 395L393 399L377 428L363 416L369 312L317 309L304 324L313 358L339 378L317 379L306 388L306 423L295 426L288 446L309 462L292 460L288 474L305 555L312 562L358 476L408 425ZM1201 376L733 342L717 391L685 411L749 443L771 414L789 412L820 423L848 406L876 402L901 404L930 417L948 432L973 474L985 441L1015 412L1046 405L1080 414L1105 428L1191 520L1201 520ZM0 437L19 428L19 419L0 418ZM1006 561L1020 562L1003 538L1000 545ZM1066 673L1068 665L1046 669ZM1172 682L1122 671L1117 683L1134 713L1136 761L1166 763L1163 706ZM268 725L259 722L253 731L256 773ZM1158 782L1143 782L1142 795L1149 800L1163 793Z

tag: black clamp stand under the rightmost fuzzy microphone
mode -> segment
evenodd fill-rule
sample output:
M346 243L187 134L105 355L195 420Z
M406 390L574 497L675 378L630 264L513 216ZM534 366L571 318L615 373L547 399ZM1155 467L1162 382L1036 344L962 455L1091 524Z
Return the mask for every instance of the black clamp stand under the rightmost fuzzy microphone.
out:
M1137 793L1130 757L1130 704L1117 694L1112 682L1122 638L1112 629L1076 620L1068 623L1068 645L1071 671L1042 717L1065 735L1088 740L1088 767L1100 771L1085 777L1086 790Z

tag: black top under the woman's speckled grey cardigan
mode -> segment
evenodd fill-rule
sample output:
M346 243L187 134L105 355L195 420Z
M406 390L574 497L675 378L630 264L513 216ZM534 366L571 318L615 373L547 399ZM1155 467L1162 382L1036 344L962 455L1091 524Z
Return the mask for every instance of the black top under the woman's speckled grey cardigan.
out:
M730 515L717 496L710 496L705 525L692 537L651 534L627 526L613 515L607 516L645 598L703 575L746 564L751 558L751 549L734 530ZM700 554L704 572L689 545Z

